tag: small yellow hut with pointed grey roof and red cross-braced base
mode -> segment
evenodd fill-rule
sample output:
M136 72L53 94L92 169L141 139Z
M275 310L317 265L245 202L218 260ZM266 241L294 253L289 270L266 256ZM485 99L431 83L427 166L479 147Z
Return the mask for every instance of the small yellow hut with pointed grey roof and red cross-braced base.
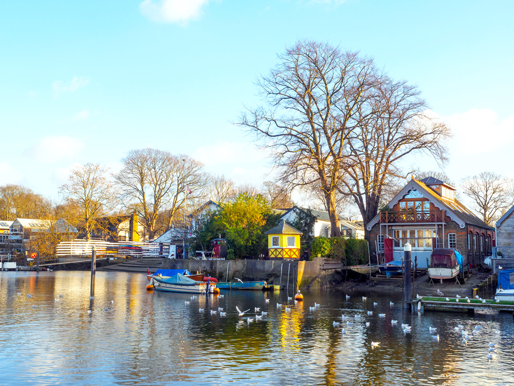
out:
M268 256L270 259L300 259L300 235L303 233L285 220L269 231Z

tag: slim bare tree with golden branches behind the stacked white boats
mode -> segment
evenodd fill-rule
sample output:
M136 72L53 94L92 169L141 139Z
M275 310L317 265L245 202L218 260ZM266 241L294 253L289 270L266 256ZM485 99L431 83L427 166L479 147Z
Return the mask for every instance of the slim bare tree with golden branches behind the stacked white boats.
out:
M61 194L71 201L70 206L80 208L84 233L89 240L96 219L109 212L113 206L112 183L106 178L108 168L88 163L70 171L68 183L61 186Z

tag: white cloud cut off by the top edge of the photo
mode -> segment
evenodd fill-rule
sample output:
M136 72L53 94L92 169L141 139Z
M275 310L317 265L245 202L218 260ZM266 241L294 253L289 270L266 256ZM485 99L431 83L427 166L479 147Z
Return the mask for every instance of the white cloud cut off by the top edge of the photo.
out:
M197 19L209 0L144 0L139 8L150 20L186 25Z

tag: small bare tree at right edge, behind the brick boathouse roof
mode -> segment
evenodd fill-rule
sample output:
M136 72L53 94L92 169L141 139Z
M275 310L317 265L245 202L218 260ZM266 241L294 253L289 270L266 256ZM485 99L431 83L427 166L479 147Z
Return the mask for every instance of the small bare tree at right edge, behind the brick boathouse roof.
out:
M484 171L478 176L461 181L463 192L473 200L474 209L487 225L494 226L502 210L512 205L508 195L508 181L499 174Z

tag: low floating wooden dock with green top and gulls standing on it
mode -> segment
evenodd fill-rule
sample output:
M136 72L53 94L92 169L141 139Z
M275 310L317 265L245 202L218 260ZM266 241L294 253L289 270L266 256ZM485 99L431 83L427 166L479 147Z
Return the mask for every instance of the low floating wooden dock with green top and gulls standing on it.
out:
M444 298L440 298L444 299ZM470 300L470 303L467 303L465 299L459 299L458 303L456 299L451 299L449 302L446 300L436 300L433 297L424 297L423 299L415 299L411 301L407 301L406 303L411 304L411 310L418 310L418 303L421 304L421 312L424 311L447 311L447 312L474 312L475 310L480 309L489 309L495 311L508 311L512 312L514 316L514 302L499 302L495 301L486 301L486 303L482 303L478 300Z

